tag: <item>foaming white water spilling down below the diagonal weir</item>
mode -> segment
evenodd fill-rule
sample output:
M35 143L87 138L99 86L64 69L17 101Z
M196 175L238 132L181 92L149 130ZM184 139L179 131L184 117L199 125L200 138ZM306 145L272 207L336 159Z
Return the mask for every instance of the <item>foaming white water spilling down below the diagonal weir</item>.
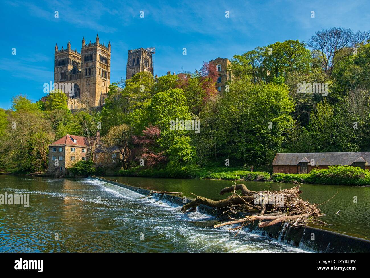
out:
M149 228L151 232L164 239L164 242L161 243L172 245L174 251L309 252L252 232L239 231L238 235L234 237L235 232L228 231L228 227L213 228L213 222L216 219L211 215L202 214L198 211L183 214L180 211L180 206L151 197L148 198L104 181L93 180L90 182L98 186L99 189L104 188L115 196L119 194L122 196L121 198L126 198L130 204L135 204L135 207L138 206L140 211L135 212L137 216L141 216L141 212L152 212L151 215L147 215L140 221L133 220L132 215L125 214L115 217L114 221L124 225L135 222L135 225L139 227Z

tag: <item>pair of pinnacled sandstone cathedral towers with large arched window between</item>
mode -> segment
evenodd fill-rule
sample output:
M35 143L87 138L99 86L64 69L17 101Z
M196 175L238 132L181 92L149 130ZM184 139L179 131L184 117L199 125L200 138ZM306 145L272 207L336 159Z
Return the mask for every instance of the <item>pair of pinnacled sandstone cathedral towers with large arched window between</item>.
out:
M63 90L68 96L68 108L82 108L88 100L91 107L104 104L108 96L111 73L111 43L108 46L100 44L99 36L95 43L86 44L82 40L81 53L67 48L54 51L54 83L73 84L73 96Z

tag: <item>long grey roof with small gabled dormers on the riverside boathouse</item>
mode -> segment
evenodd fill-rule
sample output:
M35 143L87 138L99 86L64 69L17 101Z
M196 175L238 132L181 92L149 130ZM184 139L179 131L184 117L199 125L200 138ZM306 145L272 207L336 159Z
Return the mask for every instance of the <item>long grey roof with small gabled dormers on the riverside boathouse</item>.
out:
M299 162L314 159L315 165L353 165L354 162L366 162L369 165L370 151L347 152L347 153L277 153L272 166L295 166Z

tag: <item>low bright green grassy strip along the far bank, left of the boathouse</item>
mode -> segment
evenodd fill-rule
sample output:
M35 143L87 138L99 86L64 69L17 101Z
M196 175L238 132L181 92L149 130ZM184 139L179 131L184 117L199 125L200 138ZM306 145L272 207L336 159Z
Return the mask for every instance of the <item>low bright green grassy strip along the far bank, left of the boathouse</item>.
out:
M183 167L181 170L142 169L141 167L121 170L117 173L128 177L156 177L156 178L195 178L215 180L269 181L270 174L251 172L243 168L229 167Z

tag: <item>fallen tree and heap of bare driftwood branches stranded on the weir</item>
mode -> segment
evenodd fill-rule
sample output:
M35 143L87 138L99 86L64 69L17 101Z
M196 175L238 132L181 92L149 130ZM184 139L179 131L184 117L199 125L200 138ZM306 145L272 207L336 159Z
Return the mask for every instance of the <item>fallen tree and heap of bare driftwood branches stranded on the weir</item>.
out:
M238 194L237 191L241 191ZM316 220L324 214L320 213L317 204L310 204L300 198L302 191L299 185L289 189L279 191L251 191L244 184L235 184L225 187L220 194L232 193L231 196L223 200L211 200L205 197L196 196L195 200L185 204L181 211L194 210L198 205L208 205L209 207L220 208L224 214L228 215L231 221L214 225L215 228L225 225L238 224L231 230L239 230L244 225L254 221L259 221L261 228L269 227L285 221L290 221L293 227L307 225L309 222L318 225L328 225L323 221ZM246 212L249 215L235 219L232 218L237 212ZM234 216L235 217L235 216Z

